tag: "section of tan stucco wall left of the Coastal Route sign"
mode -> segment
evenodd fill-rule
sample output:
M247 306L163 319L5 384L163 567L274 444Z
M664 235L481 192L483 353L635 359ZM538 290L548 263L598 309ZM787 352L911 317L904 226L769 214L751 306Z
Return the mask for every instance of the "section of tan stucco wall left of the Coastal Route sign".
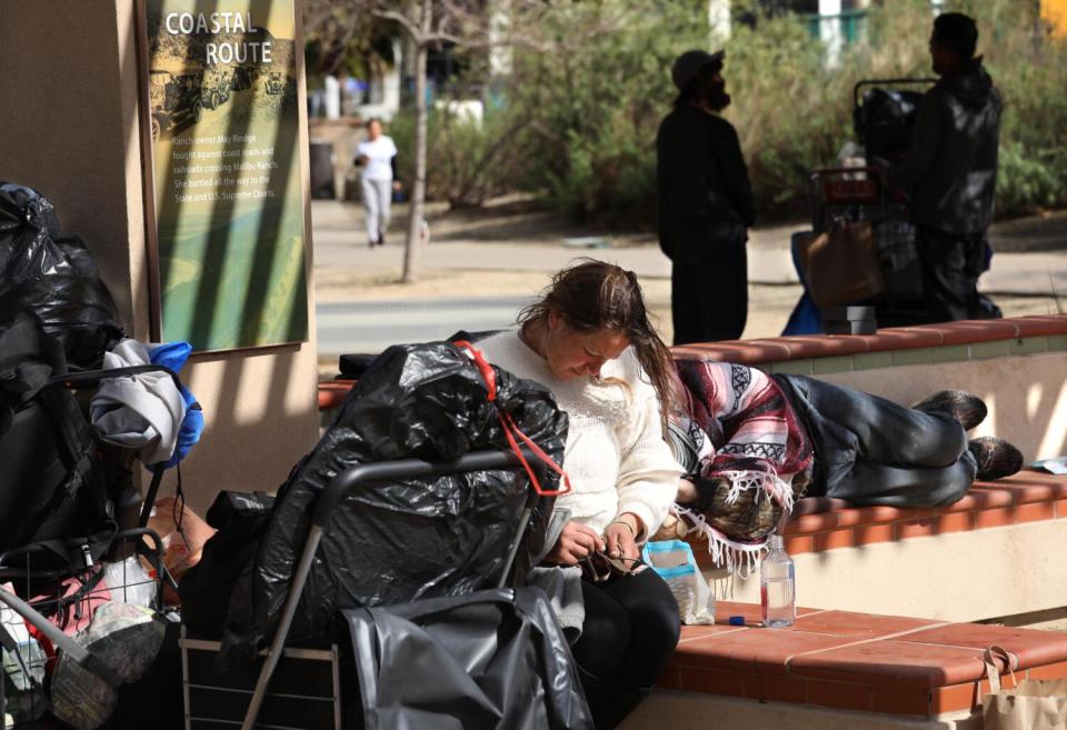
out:
M0 3L0 180L51 200L94 253L123 323L143 338L133 22L132 3Z

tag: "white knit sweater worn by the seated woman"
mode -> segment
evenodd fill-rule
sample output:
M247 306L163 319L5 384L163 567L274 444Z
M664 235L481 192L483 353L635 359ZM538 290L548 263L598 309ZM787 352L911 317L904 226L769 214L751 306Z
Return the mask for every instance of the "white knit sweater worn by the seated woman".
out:
M556 500L570 510L570 519L602 532L624 512L632 512L652 534L667 516L678 491L681 468L662 438L659 399L641 370L632 348L609 360L600 371L607 380L560 380L548 363L519 338L499 332L476 343L489 362L552 391L570 428L564 452L564 470L574 490Z

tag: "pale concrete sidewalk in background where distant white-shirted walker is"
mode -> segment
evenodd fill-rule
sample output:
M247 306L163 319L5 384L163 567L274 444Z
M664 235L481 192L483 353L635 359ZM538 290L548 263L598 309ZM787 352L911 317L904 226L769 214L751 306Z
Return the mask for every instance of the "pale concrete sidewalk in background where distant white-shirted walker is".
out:
M362 232L362 211L333 201L312 203L315 266L317 269L352 269L365 272L399 270L403 260L403 232L393 227L385 247L368 248ZM795 229L756 229L748 247L749 281L759 284L796 284L789 256L789 236ZM431 242L421 250L423 269L486 271L557 271L575 258L589 256L634 270L642 278L669 278L670 261L655 244L625 248L572 248L564 240L499 241L462 240ZM994 242L996 237L994 236ZM987 293L1017 296L1067 296L1067 241L1060 251L1004 252L993 259L979 288ZM459 292L457 292L459 293Z

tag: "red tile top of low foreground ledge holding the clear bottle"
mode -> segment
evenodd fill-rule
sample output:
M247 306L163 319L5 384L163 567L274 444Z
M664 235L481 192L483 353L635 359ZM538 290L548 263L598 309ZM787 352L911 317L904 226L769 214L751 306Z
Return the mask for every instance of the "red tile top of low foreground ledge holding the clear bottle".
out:
M720 624L682 628L659 687L934 717L980 707L989 691L981 653L991 643L1018 657L1018 680L1067 678L1067 633L849 611L798 614L789 629L764 629L751 626L759 607L720 601ZM730 616L749 626L724 626ZM1013 686L1010 676L1004 684Z

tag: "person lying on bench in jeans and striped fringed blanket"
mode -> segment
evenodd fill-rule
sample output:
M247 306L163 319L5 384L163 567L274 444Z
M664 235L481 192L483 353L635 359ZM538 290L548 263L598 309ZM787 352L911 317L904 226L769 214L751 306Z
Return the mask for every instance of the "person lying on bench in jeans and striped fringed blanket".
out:
M801 496L937 508L976 479L1023 467L1023 454L1003 439L967 440L986 417L970 393L940 391L905 408L742 364L684 360L676 368L670 441L686 471L677 501L730 567L754 566Z

